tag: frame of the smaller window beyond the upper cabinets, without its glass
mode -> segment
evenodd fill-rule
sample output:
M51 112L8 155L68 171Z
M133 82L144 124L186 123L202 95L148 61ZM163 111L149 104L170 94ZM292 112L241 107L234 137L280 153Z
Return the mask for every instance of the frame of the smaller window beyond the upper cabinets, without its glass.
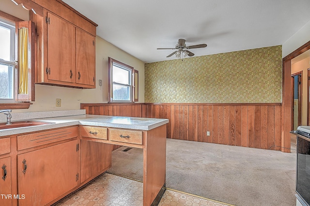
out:
M129 71L129 74L128 74L129 84L128 85L113 81L113 66ZM109 57L109 103L132 103L133 102L133 82L134 82L133 75L134 75L133 67ZM128 101L114 100L113 99L113 85L128 87L129 100Z

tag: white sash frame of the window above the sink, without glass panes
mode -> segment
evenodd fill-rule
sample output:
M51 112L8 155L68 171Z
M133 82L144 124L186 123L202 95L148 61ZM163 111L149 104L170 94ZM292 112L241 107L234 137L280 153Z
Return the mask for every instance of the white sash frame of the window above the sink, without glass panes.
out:
M10 29L10 36L11 36L11 45L10 45L10 60L3 60L0 59L0 64L4 64L4 65L8 65L12 67L12 76L9 77L10 79L12 79L12 84L11 84L11 98L10 99L0 99L1 103L16 103L15 101L15 23L7 21L5 19L0 18L0 26Z

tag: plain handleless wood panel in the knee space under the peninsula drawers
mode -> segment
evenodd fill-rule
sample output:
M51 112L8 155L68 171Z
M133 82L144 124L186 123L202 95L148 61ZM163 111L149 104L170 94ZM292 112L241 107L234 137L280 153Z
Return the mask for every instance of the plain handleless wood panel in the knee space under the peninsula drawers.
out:
M81 140L81 183L111 167L112 145Z

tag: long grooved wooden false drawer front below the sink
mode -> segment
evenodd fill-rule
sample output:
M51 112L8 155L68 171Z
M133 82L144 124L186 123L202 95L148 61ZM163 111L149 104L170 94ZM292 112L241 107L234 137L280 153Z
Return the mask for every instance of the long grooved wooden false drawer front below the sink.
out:
M17 150L78 137L78 126L17 136Z

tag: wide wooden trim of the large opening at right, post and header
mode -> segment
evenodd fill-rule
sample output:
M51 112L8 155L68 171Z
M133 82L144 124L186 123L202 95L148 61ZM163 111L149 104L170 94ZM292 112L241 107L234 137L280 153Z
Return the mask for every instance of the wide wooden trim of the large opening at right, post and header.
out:
M292 63L291 60L298 55L304 53L310 49L310 41L300 46L292 53L282 59L282 120L281 120L281 151L290 152L291 147L291 134L290 129L292 126L292 80L291 71Z

